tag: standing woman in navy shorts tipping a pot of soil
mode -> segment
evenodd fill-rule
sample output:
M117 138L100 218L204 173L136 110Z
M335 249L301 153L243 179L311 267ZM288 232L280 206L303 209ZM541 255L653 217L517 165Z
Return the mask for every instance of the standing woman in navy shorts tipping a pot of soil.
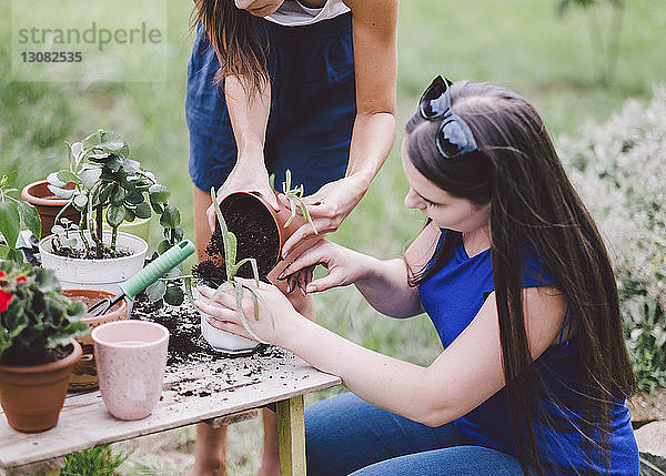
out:
M316 229L335 231L393 144L397 1L194 3L185 115L200 259L214 223L211 186L221 186L219 200L256 191L278 209L269 176L279 188L287 169L304 185ZM312 234L309 225L299 229L283 256ZM310 300L291 291L290 301L312 317ZM261 475L279 468L269 415ZM222 444L222 433L199 425L190 474L213 474Z

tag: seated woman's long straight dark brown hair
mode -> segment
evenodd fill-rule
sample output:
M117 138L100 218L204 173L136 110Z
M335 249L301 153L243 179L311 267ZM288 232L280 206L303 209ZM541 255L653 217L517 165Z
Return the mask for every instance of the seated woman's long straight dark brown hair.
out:
M610 403L632 395L628 359L608 254L599 232L569 182L534 108L492 83L460 82L452 108L470 125L480 151L443 159L435 146L438 121L414 114L406 126L407 154L425 178L454 196L491 204L491 259L502 364L512 434L523 472L544 474L533 422L546 423L529 354L522 298L521 244L544 260L568 302L582 362L585 403L582 455L592 460L598 440L609 469ZM451 256L460 234L447 233L430 267L413 283L435 274ZM601 423L595 429L595 422Z

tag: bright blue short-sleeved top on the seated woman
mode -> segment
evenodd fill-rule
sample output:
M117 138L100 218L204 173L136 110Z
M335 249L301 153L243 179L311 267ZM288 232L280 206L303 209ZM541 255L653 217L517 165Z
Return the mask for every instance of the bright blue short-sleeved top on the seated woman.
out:
M444 233L440 245L443 235ZM557 286L534 247L523 246L522 255L524 287ZM458 240L451 260L418 286L423 308L433 321L444 348L474 320L494 290L490 250L470 257L462 240ZM582 363L575 336L569 340L566 334L565 331L562 342L548 347L535 361L539 388L549 391L549 396L542 399L542 406L552 426L535 428L536 437L547 474L557 475L579 474L589 467L589 463L585 463L582 456L578 432L583 423L581 415L584 405ZM613 401L612 413L610 475L638 475L638 448L624 398ZM457 418L455 426L462 445L485 446L515 454L504 388ZM605 474L604 460L598 452L595 453L592 455L592 467L595 473Z

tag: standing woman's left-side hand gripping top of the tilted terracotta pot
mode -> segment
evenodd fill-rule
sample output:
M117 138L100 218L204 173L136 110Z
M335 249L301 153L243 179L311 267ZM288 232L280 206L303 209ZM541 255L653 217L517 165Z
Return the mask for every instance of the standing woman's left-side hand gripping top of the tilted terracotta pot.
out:
M269 172L263 165L263 153L252 156L240 156L236 166L231 171L224 183L218 189L218 203L234 192L259 192L275 211L280 210L278 199L269 183ZM215 231L215 209L211 204L205 211L209 225Z

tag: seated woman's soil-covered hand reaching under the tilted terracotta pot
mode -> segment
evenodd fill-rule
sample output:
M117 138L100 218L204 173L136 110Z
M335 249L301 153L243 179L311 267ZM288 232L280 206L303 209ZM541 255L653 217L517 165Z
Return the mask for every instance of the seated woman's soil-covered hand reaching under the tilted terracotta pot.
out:
M354 284L372 271L371 257L329 240L320 240L304 251L278 276L287 280L287 291L296 286L303 294ZM313 281L314 267L321 264L329 274Z

